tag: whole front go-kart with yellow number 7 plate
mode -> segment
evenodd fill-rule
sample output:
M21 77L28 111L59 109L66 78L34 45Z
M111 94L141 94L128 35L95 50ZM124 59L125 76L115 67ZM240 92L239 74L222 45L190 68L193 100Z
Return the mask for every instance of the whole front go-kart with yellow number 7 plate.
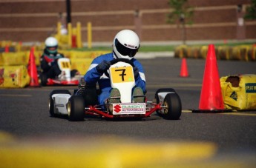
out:
M50 115L68 115L70 121L83 121L90 115L102 118L147 118L157 112L165 119L179 119L182 110L180 96L172 88L157 90L153 101L147 101L145 95L137 95L143 97L143 102L132 101L131 90L135 86L132 66L134 64L128 59L114 59L109 70L105 72L111 78L111 87L119 90L119 103L98 104L99 93L96 87L79 84L79 89L74 90L73 95L69 90L53 90L50 93Z

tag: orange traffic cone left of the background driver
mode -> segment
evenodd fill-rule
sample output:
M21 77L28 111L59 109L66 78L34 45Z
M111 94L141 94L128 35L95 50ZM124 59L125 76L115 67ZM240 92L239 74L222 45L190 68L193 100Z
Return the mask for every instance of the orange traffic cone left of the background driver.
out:
M27 72L30 75L30 87L39 87L39 79L36 70L36 61L34 55L34 47L30 50L30 58L28 62Z

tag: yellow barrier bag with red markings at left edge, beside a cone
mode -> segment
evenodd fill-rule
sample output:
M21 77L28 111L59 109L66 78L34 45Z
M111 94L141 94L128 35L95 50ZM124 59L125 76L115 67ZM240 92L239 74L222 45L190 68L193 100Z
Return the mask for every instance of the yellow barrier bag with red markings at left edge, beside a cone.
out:
M30 84L30 76L27 73L26 66L20 65L0 67L0 87L26 87L28 84Z

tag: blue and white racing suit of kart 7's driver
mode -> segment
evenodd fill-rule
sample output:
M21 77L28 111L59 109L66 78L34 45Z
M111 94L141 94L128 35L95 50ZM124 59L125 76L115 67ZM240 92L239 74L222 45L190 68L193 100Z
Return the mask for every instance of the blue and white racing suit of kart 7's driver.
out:
M99 57L96 57L93 59L91 66L89 67L87 73L85 73L85 82L86 84L96 84L98 82L99 89L102 91L103 94L99 95L101 98L99 98L99 103L103 104L103 101L105 98L108 98L110 92L111 92L111 80L106 76L105 74L98 73L96 70L96 66L101 63L103 60L111 61L114 59L114 53L108 53ZM145 88L145 73L142 67L142 64L140 64L137 59L132 58L131 61L134 63L134 66L136 66L139 70L140 75L135 78L136 87L142 88L143 92L146 92Z

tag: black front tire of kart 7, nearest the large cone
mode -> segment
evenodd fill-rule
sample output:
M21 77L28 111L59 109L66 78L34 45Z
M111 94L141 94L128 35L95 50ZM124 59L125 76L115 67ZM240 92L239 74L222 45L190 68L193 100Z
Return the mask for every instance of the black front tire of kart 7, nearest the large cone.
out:
M181 115L181 101L177 93L168 93L163 101L164 108L163 117L168 120L178 120Z

